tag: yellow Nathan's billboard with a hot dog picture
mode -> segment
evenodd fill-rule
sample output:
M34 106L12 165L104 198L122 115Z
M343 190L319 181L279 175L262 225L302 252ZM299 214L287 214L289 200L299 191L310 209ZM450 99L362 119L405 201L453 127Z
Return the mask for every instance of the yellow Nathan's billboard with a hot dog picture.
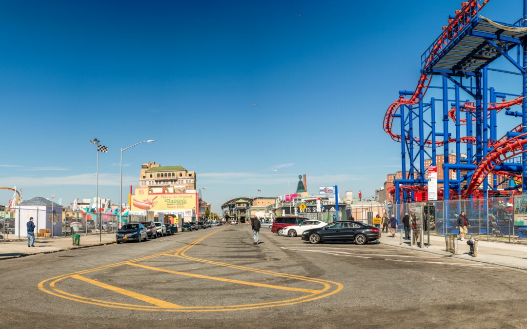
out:
M131 197L131 210L197 210L196 193L150 193L148 187L137 187Z

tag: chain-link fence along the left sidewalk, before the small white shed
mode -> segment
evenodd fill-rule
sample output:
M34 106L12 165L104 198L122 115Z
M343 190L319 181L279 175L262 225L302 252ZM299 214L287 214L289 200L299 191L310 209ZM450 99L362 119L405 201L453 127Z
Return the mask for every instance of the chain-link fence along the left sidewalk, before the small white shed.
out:
M30 218L33 218L36 238L115 233L119 223L119 215L113 213L64 212L62 208L51 206L17 206L0 212L0 241L27 238ZM145 215L128 215L122 216L121 220L126 224L141 222L145 218Z

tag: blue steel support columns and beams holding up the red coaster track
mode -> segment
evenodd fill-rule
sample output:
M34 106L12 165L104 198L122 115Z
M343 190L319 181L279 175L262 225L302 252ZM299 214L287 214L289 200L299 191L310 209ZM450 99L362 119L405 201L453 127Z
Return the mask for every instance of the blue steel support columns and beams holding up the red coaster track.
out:
M469 3L472 4L472 2ZM483 1L479 1L479 3L481 4ZM486 1L484 3L486 3ZM516 25L509 24L509 26L512 28L518 26L527 27L527 0L523 0L523 5L524 8L522 19L519 21L519 24L518 22L515 23ZM456 17L458 16L453 17L454 21ZM463 20L465 20L465 18L463 18ZM469 186L472 183L472 177L476 168L480 168L480 165L483 166L483 161L485 161L488 156L491 156L491 151L495 147L496 141L504 140L503 138L500 139L500 137L497 136L497 111L494 104L499 104L499 102L496 100L497 98L503 98L505 100L505 96L516 97L518 95L496 93L493 87L489 87L489 71L500 72L499 74L510 73L522 76L522 112L520 114L519 112L507 111L508 113L506 114L521 116L521 130L519 131L522 133L527 133L527 34L524 33L523 36L520 35L520 32L518 32L520 34L516 35L506 33L502 34L503 30L497 30L495 33L489 32L488 27L490 25L483 21L483 18L481 18L479 15L479 11L477 12L477 15L468 18L468 21L470 21L471 24L463 24L463 28L455 30L457 36L448 41L452 43L452 45L443 43L437 48L437 44L434 43L422 56L424 63L422 67L422 74L428 75L430 77L433 75L442 76L441 86L430 87L442 89L442 99L436 99L432 97L430 98L430 103L426 103L425 99L423 98L424 93L423 95L416 97L418 88L415 92L399 92L399 96L404 97L412 95L413 97L406 99L417 99L417 101L414 103L401 103L396 111L397 113L393 114L393 117L398 117L400 119L398 122L401 124L401 137L400 139L396 140L401 141L402 176L401 179L398 179L394 182L394 185L396 186L396 204L401 203L401 198L403 202L416 200L416 195L414 193L415 189L405 190L405 188L402 186L426 185L425 173L427 168L425 166L425 161L430 158L431 162L429 163L433 166L436 165L437 147L442 146L444 158L443 180L439 181L442 181L443 183L444 199L448 200L451 197L451 189L452 191L455 191L454 193L456 194L456 198L458 195L462 195L464 192L466 192L462 190L462 184ZM479 24L486 24L486 29L477 29ZM447 29L446 31L450 31L450 29ZM451 49L457 45L457 43L463 41L462 39L465 35L471 38L471 43L475 43L474 38L480 38L481 44L474 45L474 51L464 52L463 56L460 56L459 53L454 52L448 58L443 60L442 56L444 56L447 52L450 52ZM465 45L462 47L465 47ZM509 52L514 47L517 47L518 61L514 61L514 59L512 59L509 54ZM443 51L442 48L446 49L446 51ZM437 49L440 50L437 51ZM435 52L432 53L432 51ZM441 52L443 52L443 54ZM469 54L465 55L465 53ZM483 57L482 54L484 54ZM507 61L511 62L513 66L518 68L520 70L520 74L497 68L489 69L489 65L494 61L494 59L499 58L500 56L504 57ZM514 57L516 56L514 55ZM451 69L442 68L446 65L449 65L449 63L456 61L456 58L458 63L451 64ZM520 59L523 60L523 63L520 63ZM430 63L428 63L428 61L430 61ZM434 67L436 64L437 67ZM449 80L452 83L452 87L448 86ZM422 84L423 81L420 80L419 83ZM448 99L449 90L455 92L455 98L453 101ZM466 101L461 102L461 92L469 95L473 99L473 102L471 102L471 99L466 99ZM402 97L400 99L403 99ZM442 132L436 131L436 101L442 102L443 105ZM507 98L507 101L510 101L510 98ZM453 102L452 106L449 106L449 102ZM450 123L451 118L449 116L449 111L451 108L453 111L451 115L454 115L455 113L455 121L452 123ZM499 109L502 108L503 107L500 107ZM417 109L418 111L416 111ZM431 112L430 116L428 116L426 111ZM463 115L463 112L465 112L465 115ZM464 132L461 129L461 126L465 124L462 122L462 116L466 120L466 129L463 129L465 130ZM425 117L430 118L430 121L425 119ZM414 123L415 119L418 120L418 123ZM449 133L450 125L455 126L455 138L451 138L451 134ZM418 132L415 131L417 128ZM427 131L427 129L430 130ZM511 139L518 136L520 134L519 131L512 131L508 133L507 138ZM392 134L392 138L393 137L394 135ZM438 144L437 138L441 137L443 137L442 141L440 139L441 142ZM456 157L455 164L452 164L450 163L450 146L448 144L453 143L454 141ZM461 145L462 143L466 145L466 159L462 158L462 151L465 150L465 146ZM418 152L415 154L414 147L418 147ZM428 151L430 150L429 147L431 148L431 152ZM505 171L509 173L521 172L523 177L523 193L527 193L527 144L523 145L522 149L524 151L521 155L522 164L500 162L493 170ZM409 161L406 161L406 156L408 156ZM488 163L489 162L487 162L487 164ZM490 163L493 165L496 164L492 161ZM449 177L450 170L455 171L455 178ZM500 188L500 185L497 184L498 177L496 174L491 172L490 175L493 178L492 184L489 184L486 178L481 180L481 177L479 181L476 180L473 183L475 184L476 182L481 182L480 188L483 188L483 191L480 190L479 193L481 194L479 195L483 195L483 197L488 197L489 191L497 191L498 188ZM399 189L399 187L401 187L401 189ZM463 187L463 189L464 188L465 187ZM415 191L419 190L417 189ZM400 211L398 210L396 213L399 219Z

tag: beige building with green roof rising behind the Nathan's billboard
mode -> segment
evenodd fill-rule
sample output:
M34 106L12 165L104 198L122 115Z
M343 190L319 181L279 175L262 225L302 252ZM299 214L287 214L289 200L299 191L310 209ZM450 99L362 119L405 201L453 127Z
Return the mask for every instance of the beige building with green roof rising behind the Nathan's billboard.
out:
M196 190L196 173L182 166L161 166L155 162L143 163L139 174L140 187L173 187Z

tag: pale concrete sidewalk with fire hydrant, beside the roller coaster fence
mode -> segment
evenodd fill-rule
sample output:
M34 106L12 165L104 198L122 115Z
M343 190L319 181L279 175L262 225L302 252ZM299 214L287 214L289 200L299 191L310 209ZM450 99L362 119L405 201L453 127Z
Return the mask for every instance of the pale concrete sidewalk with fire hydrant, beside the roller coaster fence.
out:
M444 236L430 235L429 247L426 247L426 234L424 235L423 241L425 244L425 247L423 248L419 248L417 246L410 246L410 242L407 240L403 240L403 244L400 244L401 237L399 232L397 232L395 237L391 237L390 234L383 233L380 238L380 243L386 245L403 247L416 251L429 252L443 256L456 257L469 261L518 268L520 270L527 271L527 245L509 244L493 241L480 241L477 257L472 257L471 255L469 255L470 246L466 244L466 240L457 241L457 255L454 255L450 252L446 252L446 243Z

